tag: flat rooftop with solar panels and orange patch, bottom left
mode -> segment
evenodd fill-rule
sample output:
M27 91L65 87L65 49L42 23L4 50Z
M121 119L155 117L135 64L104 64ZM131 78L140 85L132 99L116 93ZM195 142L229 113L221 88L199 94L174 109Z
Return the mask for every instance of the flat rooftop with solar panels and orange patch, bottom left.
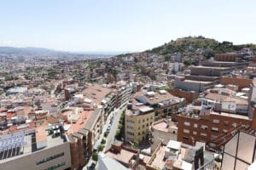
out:
M60 129L58 134L56 134L56 128L55 130L52 130L52 133L49 133L49 130L51 130L52 127L54 126L40 126L22 132L1 136L0 163L16 159L20 156L29 155L37 150L44 150L58 144L64 144L66 142L66 137L61 135L62 131Z

